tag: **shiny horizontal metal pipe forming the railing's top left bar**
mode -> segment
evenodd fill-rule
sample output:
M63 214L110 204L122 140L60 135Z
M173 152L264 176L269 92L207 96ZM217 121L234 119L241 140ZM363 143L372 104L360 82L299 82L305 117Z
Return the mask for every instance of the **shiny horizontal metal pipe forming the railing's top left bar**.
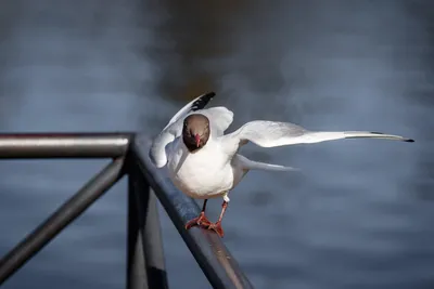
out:
M131 133L0 134L0 159L117 158L128 150Z

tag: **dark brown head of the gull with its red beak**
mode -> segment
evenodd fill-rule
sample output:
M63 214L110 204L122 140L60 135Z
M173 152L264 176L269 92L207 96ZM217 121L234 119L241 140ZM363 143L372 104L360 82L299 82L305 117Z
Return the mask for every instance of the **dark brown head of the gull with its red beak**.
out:
M202 148L209 139L209 120L204 115L194 114L183 120L182 140L190 153Z

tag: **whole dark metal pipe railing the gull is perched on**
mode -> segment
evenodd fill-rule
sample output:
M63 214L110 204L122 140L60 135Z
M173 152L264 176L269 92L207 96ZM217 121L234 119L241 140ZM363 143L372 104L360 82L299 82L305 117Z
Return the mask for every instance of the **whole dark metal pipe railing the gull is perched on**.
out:
M0 260L0 286L127 174L128 289L168 288L156 199L214 288L253 288L217 234L197 227L184 229L200 208L155 169L148 157L149 147L149 137L133 133L0 134L0 159L113 159Z

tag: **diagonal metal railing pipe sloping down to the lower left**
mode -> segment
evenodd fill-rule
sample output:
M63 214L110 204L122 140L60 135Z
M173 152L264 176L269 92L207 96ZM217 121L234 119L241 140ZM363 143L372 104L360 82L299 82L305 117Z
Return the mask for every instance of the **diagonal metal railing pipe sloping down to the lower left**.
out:
M0 286L64 227L80 215L124 174L124 158L115 159L77 194L0 260Z

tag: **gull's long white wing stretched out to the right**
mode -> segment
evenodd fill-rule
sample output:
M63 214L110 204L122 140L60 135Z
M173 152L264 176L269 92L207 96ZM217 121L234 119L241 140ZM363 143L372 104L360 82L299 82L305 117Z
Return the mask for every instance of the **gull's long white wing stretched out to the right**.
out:
M299 126L289 122L276 122L255 120L245 123L243 127L229 134L239 146L247 142L255 143L263 147L273 147L293 144L311 144L342 139L385 139L403 142L414 142L399 135L385 134L369 131L308 131Z

